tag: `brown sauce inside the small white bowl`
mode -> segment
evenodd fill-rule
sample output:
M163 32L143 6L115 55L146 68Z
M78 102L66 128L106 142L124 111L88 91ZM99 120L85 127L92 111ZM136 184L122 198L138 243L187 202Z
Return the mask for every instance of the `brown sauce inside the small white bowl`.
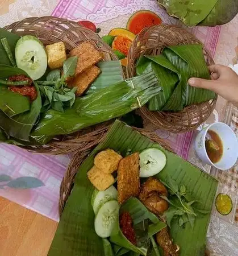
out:
M219 135L212 130L208 130L207 133L210 135L212 139L212 143L215 144L216 148L210 146L207 141L205 142L207 155L210 158L212 163L217 163L222 158L223 155L223 144L222 140L220 139Z

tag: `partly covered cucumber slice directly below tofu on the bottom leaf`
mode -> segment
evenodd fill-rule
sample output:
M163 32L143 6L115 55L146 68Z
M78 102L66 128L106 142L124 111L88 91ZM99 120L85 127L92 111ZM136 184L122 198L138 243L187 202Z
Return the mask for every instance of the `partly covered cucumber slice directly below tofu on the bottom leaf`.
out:
M94 213L97 214L98 209L112 199L118 199L118 191L114 186L107 188L105 191L95 189L91 197L91 205L93 206Z

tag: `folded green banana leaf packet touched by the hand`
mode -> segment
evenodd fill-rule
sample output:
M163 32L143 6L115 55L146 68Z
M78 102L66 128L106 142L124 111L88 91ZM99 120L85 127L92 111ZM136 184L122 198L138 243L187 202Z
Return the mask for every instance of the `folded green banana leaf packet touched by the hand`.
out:
M149 110L179 111L185 106L198 104L216 97L210 90L189 86L190 77L210 79L199 44L166 47L162 55L141 56L136 67L137 74L153 70L162 88L149 102Z

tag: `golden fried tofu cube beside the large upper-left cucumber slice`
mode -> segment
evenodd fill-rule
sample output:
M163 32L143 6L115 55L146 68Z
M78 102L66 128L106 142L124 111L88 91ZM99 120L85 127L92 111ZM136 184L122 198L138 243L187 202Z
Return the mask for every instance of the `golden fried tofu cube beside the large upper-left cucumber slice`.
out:
M45 47L48 57L48 65L51 69L63 67L66 60L65 45L63 42L50 44Z

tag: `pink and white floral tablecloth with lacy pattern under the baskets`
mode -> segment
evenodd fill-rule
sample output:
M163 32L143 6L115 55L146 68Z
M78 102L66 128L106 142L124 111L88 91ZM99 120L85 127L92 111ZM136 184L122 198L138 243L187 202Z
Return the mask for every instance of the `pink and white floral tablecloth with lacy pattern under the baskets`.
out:
M182 26L160 9L155 0L15 0L9 6L9 13L0 16L0 26L6 26L27 16L52 14L73 20L91 20L102 29L101 35L105 35L111 28L126 27L131 14L141 9L154 11L166 23ZM202 40L212 55L215 55L220 27L196 27L189 30ZM216 110L211 120L214 117L219 119L219 114L219 110ZM177 154L206 171L210 170L194 155L191 144L195 131L174 135L157 130L157 134L166 139ZM15 146L0 144L0 195L53 220L59 220L59 187L69 160L67 155L36 155ZM27 180L22 177L34 179ZM32 188L22 189L26 184L30 184L28 187Z

